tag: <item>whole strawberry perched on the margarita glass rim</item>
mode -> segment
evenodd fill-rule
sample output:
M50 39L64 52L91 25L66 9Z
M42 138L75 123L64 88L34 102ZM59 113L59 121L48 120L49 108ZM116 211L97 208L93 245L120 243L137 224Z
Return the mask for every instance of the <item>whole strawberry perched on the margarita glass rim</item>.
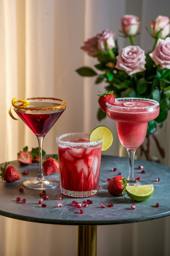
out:
M97 94L97 95L99 96L99 99L98 99L99 106L100 106L101 110L103 110L103 112L106 113L107 112L106 102L108 102L110 105L113 105L115 102L113 91L110 91L110 92L106 91L106 93Z

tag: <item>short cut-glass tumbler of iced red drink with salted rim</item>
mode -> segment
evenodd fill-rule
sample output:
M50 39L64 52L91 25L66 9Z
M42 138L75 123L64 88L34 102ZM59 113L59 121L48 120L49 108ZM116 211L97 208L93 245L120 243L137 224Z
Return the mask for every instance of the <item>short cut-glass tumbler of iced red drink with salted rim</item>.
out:
M56 138L63 195L90 197L98 193L102 139L89 142L88 138L89 133L69 133Z

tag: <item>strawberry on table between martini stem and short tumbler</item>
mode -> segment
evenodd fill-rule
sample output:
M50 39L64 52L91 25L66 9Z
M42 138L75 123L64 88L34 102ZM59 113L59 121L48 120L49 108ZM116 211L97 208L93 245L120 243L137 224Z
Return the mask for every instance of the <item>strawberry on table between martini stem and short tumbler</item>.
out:
M59 171L58 159L56 160L55 157L56 155L53 155L44 161L43 167L46 175L54 174Z

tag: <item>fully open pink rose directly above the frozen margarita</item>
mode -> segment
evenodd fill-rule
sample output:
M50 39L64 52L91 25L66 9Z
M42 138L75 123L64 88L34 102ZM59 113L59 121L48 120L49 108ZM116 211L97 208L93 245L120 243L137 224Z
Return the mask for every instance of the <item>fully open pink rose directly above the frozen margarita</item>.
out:
M145 51L139 46L126 46L121 53L116 56L117 63L115 68L124 70L129 76L146 70Z

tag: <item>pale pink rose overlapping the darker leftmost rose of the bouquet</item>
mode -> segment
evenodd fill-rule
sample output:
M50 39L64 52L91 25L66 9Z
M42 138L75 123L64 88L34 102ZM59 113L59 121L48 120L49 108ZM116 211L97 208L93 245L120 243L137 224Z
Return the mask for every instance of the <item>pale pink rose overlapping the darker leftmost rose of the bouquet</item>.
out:
M97 34L97 48L101 51L105 51L106 49L106 43L108 48L111 50L115 47L114 37L115 33L112 31L109 31L108 29L102 31L102 33Z

